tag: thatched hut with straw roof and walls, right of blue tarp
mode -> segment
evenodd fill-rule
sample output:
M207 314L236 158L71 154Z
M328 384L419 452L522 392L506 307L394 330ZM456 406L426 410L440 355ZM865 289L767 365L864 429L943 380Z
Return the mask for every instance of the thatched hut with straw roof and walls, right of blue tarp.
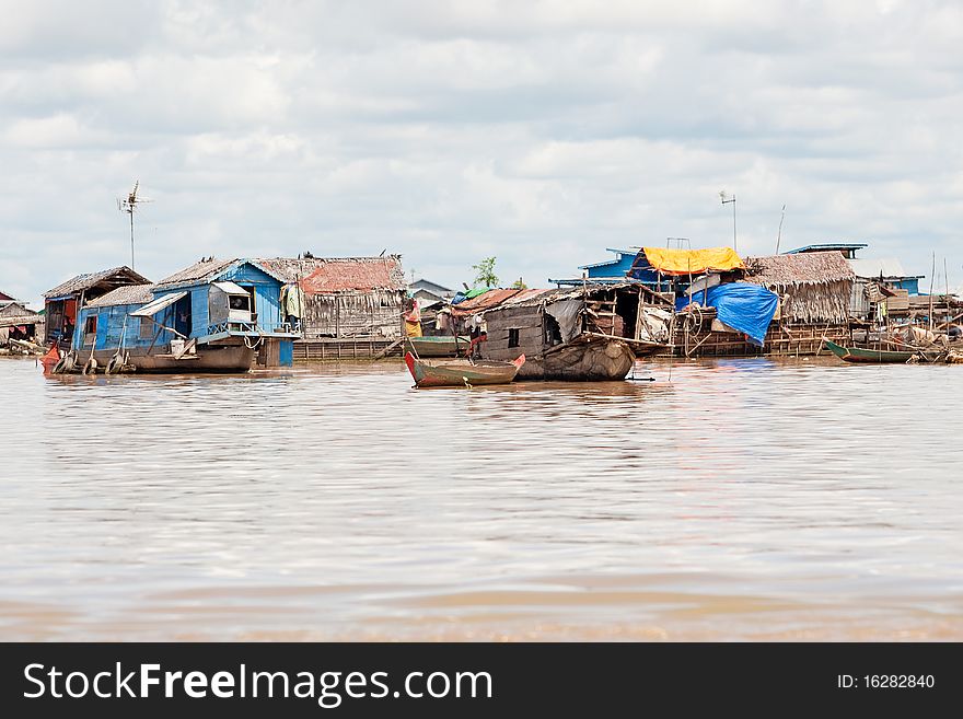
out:
M856 275L838 252L745 258L745 279L779 295L789 324L845 324Z

